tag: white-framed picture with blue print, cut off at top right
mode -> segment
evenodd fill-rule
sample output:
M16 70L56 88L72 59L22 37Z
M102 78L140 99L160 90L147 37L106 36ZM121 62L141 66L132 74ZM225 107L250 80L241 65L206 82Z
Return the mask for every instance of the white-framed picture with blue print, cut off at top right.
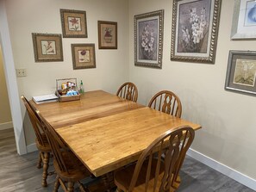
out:
M256 2L253 0L234 0L231 39L255 39L255 31Z

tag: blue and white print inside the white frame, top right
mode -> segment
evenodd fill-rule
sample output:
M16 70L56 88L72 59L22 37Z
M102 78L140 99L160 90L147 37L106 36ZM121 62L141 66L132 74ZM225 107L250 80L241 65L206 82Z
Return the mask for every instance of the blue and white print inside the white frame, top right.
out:
M245 26L256 25L256 2L248 1L246 5Z

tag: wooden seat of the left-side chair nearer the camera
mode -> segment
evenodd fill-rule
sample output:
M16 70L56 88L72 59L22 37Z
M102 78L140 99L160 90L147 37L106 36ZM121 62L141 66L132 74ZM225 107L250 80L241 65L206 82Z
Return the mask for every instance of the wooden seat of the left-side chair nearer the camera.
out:
M76 182L91 176L91 172L86 169L84 164L72 152L62 152L62 157L68 172L62 171L55 158L53 159L54 168L61 179L68 182Z

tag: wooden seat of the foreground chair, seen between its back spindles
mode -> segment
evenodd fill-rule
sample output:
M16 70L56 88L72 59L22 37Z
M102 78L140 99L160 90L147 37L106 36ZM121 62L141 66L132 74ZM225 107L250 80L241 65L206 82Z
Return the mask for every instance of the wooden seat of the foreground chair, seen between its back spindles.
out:
M148 161L145 161L141 167L140 170L140 175L138 177L137 183L134 187L134 192L141 192L145 190L145 181L146 181L146 175L147 175L147 164ZM134 174L134 169L135 169L136 164L131 164L128 167L122 169L122 170L116 170L115 173L115 183L116 186L119 189L122 189L123 191L128 191L128 187L129 184L131 183L131 179L133 177ZM154 183L154 174L155 172L153 170L156 170L156 166L157 166L157 159L153 159L152 161L152 171L151 171L151 175L150 175L150 181L149 181L149 188L153 189L153 183ZM157 189L159 189L159 185L161 184L161 179L164 175L164 165L162 164L160 166L160 170L159 170L159 179L158 179L158 183L157 183ZM173 187L171 188L170 192L175 191L175 189L178 188L179 183L174 183Z

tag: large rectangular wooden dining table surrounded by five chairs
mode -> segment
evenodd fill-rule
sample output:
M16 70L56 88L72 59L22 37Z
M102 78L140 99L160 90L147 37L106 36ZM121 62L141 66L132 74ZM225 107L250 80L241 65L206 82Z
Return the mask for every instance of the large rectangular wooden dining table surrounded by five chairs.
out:
M85 92L78 101L29 102L95 177L133 163L170 129L201 128L103 90Z

